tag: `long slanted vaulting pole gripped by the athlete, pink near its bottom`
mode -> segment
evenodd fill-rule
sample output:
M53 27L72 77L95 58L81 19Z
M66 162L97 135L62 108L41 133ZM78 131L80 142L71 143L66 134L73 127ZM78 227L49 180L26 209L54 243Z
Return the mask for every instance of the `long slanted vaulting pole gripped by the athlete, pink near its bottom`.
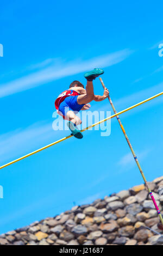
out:
M101 81L102 86L103 86L103 88L105 89L105 85L104 85L104 82L103 82L102 78L100 77L99 80ZM111 100L111 98L110 98L110 94L109 94L109 96L108 96L108 100L109 100L109 102L110 102L110 105L111 105L111 107L112 107L114 113L116 114L116 118L117 118L117 120L118 120L118 123L119 123L120 126L121 126L121 129L122 129L122 131L123 131L123 134L124 134L124 136L125 136L125 138L126 138L126 140L127 140L127 143L128 143L128 145L129 145L129 148L130 148L130 150L131 150L131 152L132 152L132 154L133 154L133 156L134 156L134 159L135 159L135 161L136 161L137 167L139 168L140 173L141 173L141 175L142 175L142 178L143 178L143 180L145 181L145 185L146 185L146 187L147 187L147 190L148 190L148 192L149 192L149 194L150 194L150 196L151 196L151 199L152 199L152 201L153 201L153 203L154 203L155 209L156 209L156 211L157 211L157 213L158 213L158 215L159 215L159 217L160 217L160 221L161 221L161 223L162 223L162 225L163 225L163 218L162 218L161 212L160 212L160 210L159 210L159 208L158 208L158 205L157 205L156 202L155 202L155 199L154 199L154 196L153 196L153 194L152 194L151 188L150 188L150 187L148 186L148 184L147 184L147 180L146 180L146 178L145 178L145 175L143 174L143 171L142 171L142 169L141 169L141 166L140 166L140 163L139 163L139 161L138 161L138 159L137 159L137 156L135 155L135 152L134 152L134 150L133 150L133 147L131 146L131 143L130 143L129 138L128 138L127 134L126 134L126 131L124 130L124 127L123 127L123 125L122 125L122 123L121 123L120 117L118 116L118 113L116 112L116 109L115 109L115 107L114 107L114 105L113 105L113 103L112 103L112 100Z

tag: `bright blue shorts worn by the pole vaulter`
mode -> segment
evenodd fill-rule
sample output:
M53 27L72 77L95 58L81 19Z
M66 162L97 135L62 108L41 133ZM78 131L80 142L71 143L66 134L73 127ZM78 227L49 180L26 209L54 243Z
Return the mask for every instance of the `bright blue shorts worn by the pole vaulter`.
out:
M79 112L85 104L79 105L77 102L76 96L68 96L64 101L62 101L59 105L59 111L62 113L62 115L66 116L68 111L74 111Z

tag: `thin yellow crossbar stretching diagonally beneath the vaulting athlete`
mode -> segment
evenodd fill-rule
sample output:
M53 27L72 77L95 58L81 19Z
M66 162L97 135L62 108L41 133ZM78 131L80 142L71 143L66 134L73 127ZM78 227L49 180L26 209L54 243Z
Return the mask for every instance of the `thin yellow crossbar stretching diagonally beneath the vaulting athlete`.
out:
M101 123L103 123L103 122L105 122L105 121L107 121L107 120L109 120L109 119L111 119L111 118L114 118L114 117L116 117L116 115L123 114L124 112L127 112L127 111L129 111L130 109L133 109L133 108L135 108L135 107L138 107L138 106L142 105L143 103L146 103L147 101L153 100L153 99L155 99L156 97L158 97L158 96L160 96L160 95L162 95L162 94L163 94L163 92L161 92L161 93L159 93L159 94L156 94L156 95L154 95L154 96L148 98L147 100L143 100L143 101L141 101L141 102L139 102L139 103L137 103L137 104L135 104L135 105L133 105L133 106L131 106L131 107L128 107L128 108L126 108L126 109L124 109L124 110L118 112L117 114L111 115L110 117L107 117L107 118L105 118L105 119L103 119L103 120L101 120L101 121L99 121L99 122L97 122L97 123L95 123L95 124L92 124L92 125L86 127L85 129L81 130L81 132L84 132L84 131L86 131L86 130L89 130L90 128L92 128L92 127L94 127L94 126L96 126L96 125L99 125L99 124L101 124ZM10 165L13 164L13 163L16 163L16 162L18 162L18 161L21 161L21 160L23 160L23 159L25 159L25 158L27 158L27 157L29 157L29 156L32 156L32 155L34 155L34 154L36 154L36 153L38 153L38 152L40 152L40 151L42 151L42 150L44 150L44 149L47 149L47 148L49 148L49 147L52 147L53 145L58 144L58 143L60 143L60 142L62 142L62 141L65 141L66 139L69 139L69 138L71 138L71 137L73 137L73 136L72 136L72 135L69 135L69 136L64 137L64 138L62 138L62 139L59 139L58 141L55 141L55 142L53 142L53 143L51 143L51 144L49 144L49 145L47 145L47 146L45 146L45 147L43 147L43 148L37 149L37 150L33 151L32 153L29 153L29 154L27 154L27 155L25 155L25 156L22 156L22 157L20 157L20 158L14 160L14 161L12 161L12 162L9 162L9 163L4 164L3 166L0 167L0 169L3 169L3 168L5 168L5 167L7 167L7 166L10 166Z

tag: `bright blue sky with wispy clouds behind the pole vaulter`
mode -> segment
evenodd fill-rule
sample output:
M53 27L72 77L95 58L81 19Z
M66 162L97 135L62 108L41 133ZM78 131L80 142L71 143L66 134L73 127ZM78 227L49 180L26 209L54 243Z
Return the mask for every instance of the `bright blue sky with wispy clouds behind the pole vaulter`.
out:
M69 134L53 131L54 101L103 68L117 111L162 92L162 6L152 1L1 3L1 165ZM95 94L103 88L95 81ZM162 175L163 97L121 115L147 180ZM108 100L92 110L111 111ZM116 120L1 170L0 233L143 182Z

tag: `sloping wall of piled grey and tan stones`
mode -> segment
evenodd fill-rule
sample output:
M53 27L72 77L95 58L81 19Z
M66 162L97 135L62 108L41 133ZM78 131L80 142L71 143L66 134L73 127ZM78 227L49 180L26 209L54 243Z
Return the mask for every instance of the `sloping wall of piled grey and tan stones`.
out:
M163 176L149 186L162 210ZM163 245L158 223L142 184L2 234L0 245Z

